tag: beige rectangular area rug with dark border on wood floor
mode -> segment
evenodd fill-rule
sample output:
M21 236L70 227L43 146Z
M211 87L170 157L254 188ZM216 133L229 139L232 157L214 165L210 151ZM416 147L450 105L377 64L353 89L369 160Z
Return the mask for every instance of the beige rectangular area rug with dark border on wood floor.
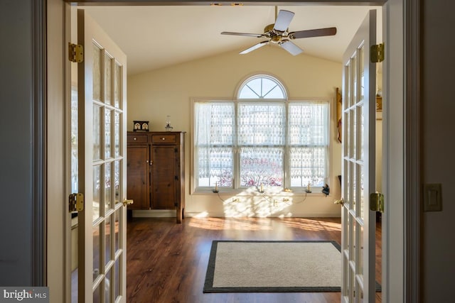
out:
M213 241L204 292L340 292L335 241Z

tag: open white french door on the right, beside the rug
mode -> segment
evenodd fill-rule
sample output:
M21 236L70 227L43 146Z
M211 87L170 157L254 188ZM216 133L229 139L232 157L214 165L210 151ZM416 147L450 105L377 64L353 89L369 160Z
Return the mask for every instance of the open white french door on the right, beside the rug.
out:
M341 302L375 302L375 63L376 11L371 10L343 55Z

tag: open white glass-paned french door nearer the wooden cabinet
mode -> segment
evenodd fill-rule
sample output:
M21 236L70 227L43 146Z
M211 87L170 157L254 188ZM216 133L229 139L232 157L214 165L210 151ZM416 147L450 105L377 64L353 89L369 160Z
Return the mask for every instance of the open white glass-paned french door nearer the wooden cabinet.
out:
M78 302L126 302L127 57L77 10L79 187Z

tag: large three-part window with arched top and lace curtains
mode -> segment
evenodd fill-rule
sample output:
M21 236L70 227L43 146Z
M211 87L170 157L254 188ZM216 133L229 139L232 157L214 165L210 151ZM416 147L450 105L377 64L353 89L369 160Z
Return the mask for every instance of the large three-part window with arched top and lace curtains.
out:
M233 101L194 103L197 189L322 187L328 179L328 102L287 100L268 75Z

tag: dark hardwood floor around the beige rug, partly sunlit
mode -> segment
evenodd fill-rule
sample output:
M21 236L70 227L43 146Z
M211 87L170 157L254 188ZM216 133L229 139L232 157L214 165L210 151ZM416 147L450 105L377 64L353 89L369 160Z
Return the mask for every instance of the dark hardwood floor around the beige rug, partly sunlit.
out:
M340 292L203 293L213 240L334 240L341 243L340 222L340 218L187 218L182 224L176 224L175 218L130 218L127 224L127 302L340 302ZM378 235L378 282L380 247ZM380 298L378 293L376 302L380 302Z

